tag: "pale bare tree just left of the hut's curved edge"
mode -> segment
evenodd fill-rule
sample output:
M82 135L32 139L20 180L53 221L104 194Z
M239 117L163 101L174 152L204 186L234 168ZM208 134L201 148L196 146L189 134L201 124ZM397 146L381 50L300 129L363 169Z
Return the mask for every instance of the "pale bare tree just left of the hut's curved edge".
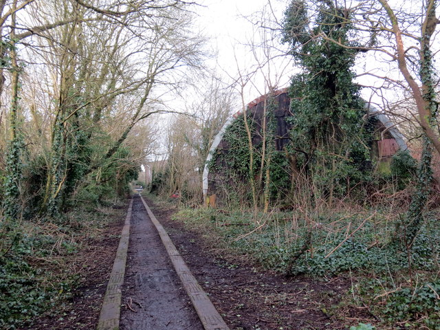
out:
M190 115L179 115L170 125L167 192L185 188L185 197L199 201L210 146L232 112L235 95L215 75L199 82L195 89L194 100L186 104Z

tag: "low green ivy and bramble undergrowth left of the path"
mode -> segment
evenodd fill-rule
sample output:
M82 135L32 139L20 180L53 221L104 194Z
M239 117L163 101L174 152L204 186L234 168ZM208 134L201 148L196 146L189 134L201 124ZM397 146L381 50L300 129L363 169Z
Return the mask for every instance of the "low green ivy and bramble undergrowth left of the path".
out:
M56 220L22 221L19 229L0 232L0 329L31 325L72 298L84 280L76 254L100 234L114 212L76 210Z

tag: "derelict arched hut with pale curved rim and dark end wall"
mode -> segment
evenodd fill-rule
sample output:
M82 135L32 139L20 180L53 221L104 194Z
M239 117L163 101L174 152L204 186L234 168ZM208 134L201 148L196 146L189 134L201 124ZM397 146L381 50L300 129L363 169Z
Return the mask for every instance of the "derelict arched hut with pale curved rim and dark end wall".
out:
M298 177L307 181L307 155L295 149L289 134L295 113L290 109L287 89L256 98L248 104L245 114L246 118L243 111L235 113L210 148L203 171L203 196L211 206L234 199L242 203L252 197L254 202L258 198L259 203L267 203L268 198L281 201L294 192ZM369 148L369 155L356 166L363 172L389 173L393 155L407 148L404 138L388 116L370 104L366 104L362 120L370 132L368 139L361 142ZM338 157L350 159L351 152L347 150ZM319 153L314 157L319 157ZM347 164L354 166L349 160ZM342 189L345 191L340 189L339 194L349 192L350 179L349 175L338 178L347 180L347 184L342 184L347 186ZM334 195L323 189L322 196L326 194Z

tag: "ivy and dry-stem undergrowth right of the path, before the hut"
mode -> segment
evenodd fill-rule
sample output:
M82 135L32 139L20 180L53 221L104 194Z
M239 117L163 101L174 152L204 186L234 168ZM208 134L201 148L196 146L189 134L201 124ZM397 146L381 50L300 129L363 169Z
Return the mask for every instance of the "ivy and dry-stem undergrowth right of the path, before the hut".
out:
M216 240L217 246L287 276L328 281L353 276L347 301L357 296L358 303L368 303L386 327L440 329L438 214L428 214L410 247L398 240L399 217L391 214L184 209L175 219Z

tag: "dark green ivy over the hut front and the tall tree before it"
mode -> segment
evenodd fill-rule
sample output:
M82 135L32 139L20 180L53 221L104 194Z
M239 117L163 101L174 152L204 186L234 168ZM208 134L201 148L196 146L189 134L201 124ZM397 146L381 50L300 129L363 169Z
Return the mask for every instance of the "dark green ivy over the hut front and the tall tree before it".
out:
M285 12L283 41L291 45L291 54L303 69L292 77L289 88L292 116L286 121L291 142L276 151L274 100L268 94L261 128L248 114L254 173L250 173L250 147L241 118L223 137L228 150L212 159L212 171L225 171L221 175L231 187L255 178L261 183L259 195L264 192L265 198L280 201L292 194L298 184L292 173L299 173L308 178L302 182L313 187L314 199L331 203L372 178L368 164L373 120L365 119L360 87L353 83L351 67L358 52L351 41L353 26L348 11L331 1L320 1L317 12L316 20L310 21L307 3L301 0L292 1ZM221 169L214 164L222 164Z

